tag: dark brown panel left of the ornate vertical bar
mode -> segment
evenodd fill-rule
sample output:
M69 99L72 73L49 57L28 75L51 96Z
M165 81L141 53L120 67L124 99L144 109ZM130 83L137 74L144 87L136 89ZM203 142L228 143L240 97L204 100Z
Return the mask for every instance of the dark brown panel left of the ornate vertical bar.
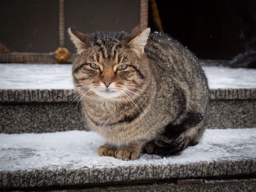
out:
M58 47L58 0L1 0L0 43L17 52Z

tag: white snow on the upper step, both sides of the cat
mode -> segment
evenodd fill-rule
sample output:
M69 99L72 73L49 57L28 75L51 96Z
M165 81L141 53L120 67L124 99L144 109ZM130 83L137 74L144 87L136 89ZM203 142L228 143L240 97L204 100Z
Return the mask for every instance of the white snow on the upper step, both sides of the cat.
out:
M73 89L71 64L0 64L0 89ZM204 66L209 87L256 88L256 69Z

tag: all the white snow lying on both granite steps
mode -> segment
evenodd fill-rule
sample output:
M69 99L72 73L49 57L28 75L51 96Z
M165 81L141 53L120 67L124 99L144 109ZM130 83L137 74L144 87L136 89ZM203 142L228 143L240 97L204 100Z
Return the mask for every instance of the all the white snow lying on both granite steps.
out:
M0 89L73 89L70 64L0 64ZM256 88L256 69L204 66L209 87ZM0 134L0 171L103 168L239 160L256 157L256 128L206 130L202 141L176 156L141 154L122 161L100 157L95 132Z

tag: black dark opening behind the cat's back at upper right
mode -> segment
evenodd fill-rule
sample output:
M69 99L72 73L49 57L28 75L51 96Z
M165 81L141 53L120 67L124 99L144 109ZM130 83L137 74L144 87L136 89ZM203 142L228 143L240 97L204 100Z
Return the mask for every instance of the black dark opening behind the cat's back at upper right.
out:
M255 0L156 0L163 31L199 58L230 60L256 48ZM149 10L149 26L157 30Z

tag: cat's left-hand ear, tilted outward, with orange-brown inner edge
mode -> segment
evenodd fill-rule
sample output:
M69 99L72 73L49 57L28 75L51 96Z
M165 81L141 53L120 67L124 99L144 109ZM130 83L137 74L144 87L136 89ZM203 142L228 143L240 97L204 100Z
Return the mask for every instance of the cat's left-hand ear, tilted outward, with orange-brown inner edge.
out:
M70 36L71 41L76 46L77 52L83 51L83 48L86 46L87 39L89 35L85 35L79 31L76 31L74 29L68 28L68 33Z

